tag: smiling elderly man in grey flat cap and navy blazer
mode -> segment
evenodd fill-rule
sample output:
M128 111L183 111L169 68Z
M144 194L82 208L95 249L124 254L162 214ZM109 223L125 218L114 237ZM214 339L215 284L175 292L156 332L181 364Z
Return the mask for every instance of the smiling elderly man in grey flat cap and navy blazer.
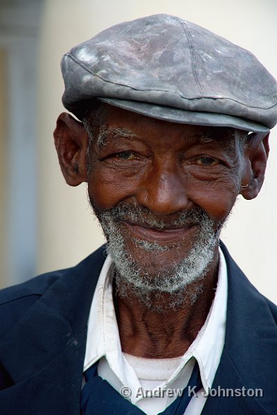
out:
M277 308L220 243L277 120L247 50L177 17L62 59L55 147L107 246L1 292L1 414L276 414Z

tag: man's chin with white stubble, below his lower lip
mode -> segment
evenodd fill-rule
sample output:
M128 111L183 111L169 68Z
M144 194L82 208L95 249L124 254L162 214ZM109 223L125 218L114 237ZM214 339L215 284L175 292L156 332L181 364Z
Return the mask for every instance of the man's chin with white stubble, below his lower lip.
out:
M153 252L141 246L131 248L129 243L125 244L124 250L116 250L111 241L108 252L116 274L120 276L120 284L129 284L130 289L136 293L141 291L141 295L153 292L177 294L206 275L215 254L215 239L211 238L206 245L196 243L189 252L176 247Z

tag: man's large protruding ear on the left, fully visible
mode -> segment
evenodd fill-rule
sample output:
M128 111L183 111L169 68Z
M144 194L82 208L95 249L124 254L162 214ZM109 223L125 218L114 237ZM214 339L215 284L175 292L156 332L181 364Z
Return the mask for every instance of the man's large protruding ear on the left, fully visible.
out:
M87 181L86 152L89 138L82 122L68 113L61 113L53 136L66 183L78 186Z

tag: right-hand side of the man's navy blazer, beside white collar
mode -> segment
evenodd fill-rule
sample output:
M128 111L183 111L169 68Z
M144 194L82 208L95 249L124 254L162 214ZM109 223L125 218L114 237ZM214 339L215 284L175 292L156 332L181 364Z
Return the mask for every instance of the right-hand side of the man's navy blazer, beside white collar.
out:
M202 414L276 414L276 307L222 250L229 277L226 338L212 389L233 389L240 396L209 396ZM248 396L256 389L256 396Z

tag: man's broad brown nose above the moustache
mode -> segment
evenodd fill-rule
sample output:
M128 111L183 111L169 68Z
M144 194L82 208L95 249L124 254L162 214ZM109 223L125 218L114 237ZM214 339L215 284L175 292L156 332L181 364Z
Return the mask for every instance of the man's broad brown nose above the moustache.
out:
M144 176L136 201L156 214L172 214L188 209L186 178L176 166L160 166Z

